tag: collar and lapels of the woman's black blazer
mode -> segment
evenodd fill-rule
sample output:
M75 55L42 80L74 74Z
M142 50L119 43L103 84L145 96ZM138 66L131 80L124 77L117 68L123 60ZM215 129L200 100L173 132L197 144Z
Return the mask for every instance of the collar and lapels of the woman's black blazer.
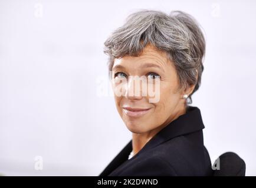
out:
M199 108L195 106L188 106L186 113L179 116L177 119L169 123L161 129L146 145L134 156L139 156L145 150L151 149L157 145L160 145L167 140L173 139L174 137L186 135L188 133L196 132L204 129L204 123ZM132 140L122 149L122 151L111 161L111 163L104 169L99 176L107 176L114 169L120 166L120 164L127 161L130 152L132 152ZM131 160L132 160L131 159Z

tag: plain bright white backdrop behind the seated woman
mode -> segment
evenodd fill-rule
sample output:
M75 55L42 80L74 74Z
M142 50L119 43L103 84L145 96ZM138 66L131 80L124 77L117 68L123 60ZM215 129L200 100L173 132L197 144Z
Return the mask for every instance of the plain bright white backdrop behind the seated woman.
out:
M0 0L0 174L97 176L126 145L113 98L99 95L103 42L139 9L185 11L202 25L193 106L205 146L212 162L236 152L256 175L256 1L181 0Z

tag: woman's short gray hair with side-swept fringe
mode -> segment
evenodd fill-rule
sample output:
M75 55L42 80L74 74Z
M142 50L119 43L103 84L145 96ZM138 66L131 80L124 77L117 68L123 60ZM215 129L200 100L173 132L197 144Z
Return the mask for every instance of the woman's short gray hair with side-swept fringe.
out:
M191 95L201 84L205 54L204 35L195 19L185 12L142 10L128 16L126 23L111 33L104 42L104 53L109 55L109 71L114 59L139 56L147 44L166 52L175 65L179 89L185 91L195 85ZM189 95L192 103L191 95Z

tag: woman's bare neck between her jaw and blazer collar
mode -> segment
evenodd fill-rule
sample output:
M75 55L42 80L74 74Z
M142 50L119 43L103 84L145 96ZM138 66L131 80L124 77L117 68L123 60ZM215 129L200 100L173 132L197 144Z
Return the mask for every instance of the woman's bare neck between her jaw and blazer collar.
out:
M145 133L132 133L132 147L133 155L136 155L145 145L155 136L161 129L169 125L170 122L177 119L180 115L186 113L186 109L179 110L174 115L170 116L163 125L156 127L156 129L149 130Z

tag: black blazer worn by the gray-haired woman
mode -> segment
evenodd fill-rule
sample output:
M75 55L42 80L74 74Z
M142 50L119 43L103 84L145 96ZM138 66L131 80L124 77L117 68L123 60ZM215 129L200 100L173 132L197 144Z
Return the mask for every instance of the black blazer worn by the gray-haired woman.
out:
M99 176L211 176L211 159L204 146L201 112L186 113L160 130L131 159L132 140Z

